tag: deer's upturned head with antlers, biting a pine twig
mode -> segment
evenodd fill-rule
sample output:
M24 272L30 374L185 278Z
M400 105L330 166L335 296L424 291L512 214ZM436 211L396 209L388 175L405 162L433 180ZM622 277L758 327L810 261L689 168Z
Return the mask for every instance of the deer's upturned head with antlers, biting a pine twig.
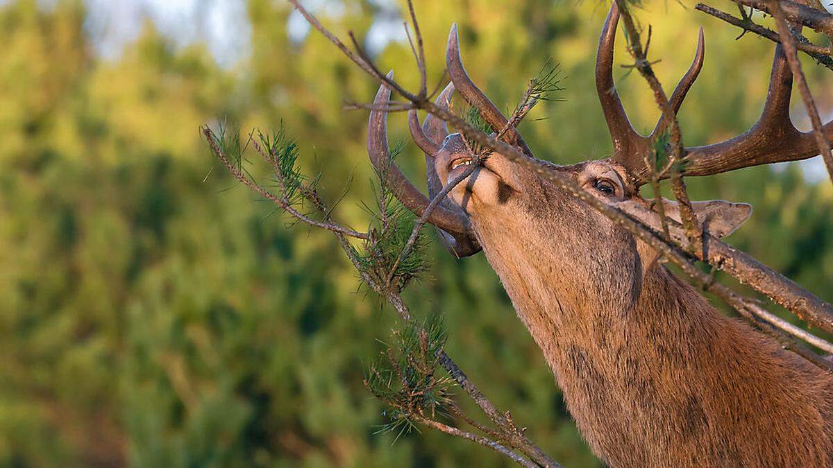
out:
M539 163L551 171L569 175L586 191L628 212L631 217L648 226L658 227L656 210L640 196L639 188L646 183L648 176L646 155L651 152L651 142L658 132L664 131L665 122L661 119L651 135L645 137L638 134L628 121L612 77L618 19L619 12L614 3L601 32L596 59L596 90L611 133L613 154L604 160L573 166ZM686 92L701 71L703 58L701 30L691 67L669 100L674 112L680 109ZM437 97L436 103L447 107L451 95L460 92L492 128L506 127L506 117L476 87L462 65L456 26L451 27L448 39L446 67L451 83ZM784 52L780 46L776 47L768 97L759 121L748 132L725 142L686 148L686 176L707 176L741 167L815 156L816 146L811 133L799 132L789 117L791 82ZM390 90L382 86L375 102L382 104L389 97ZM377 167L387 162L386 119L385 112L371 113L368 152ZM590 264L589 258L582 257L584 252L607 270L599 271L601 277L634 276L635 281L638 281L637 270L646 269L656 259L651 249L634 241L605 217L582 206L582 202L569 193L561 193L563 191L535 172L496 153L476 158L463 137L457 133L448 135L445 123L436 117L429 115L420 125L416 111L411 111L409 123L414 141L426 155L429 197L435 196L450 176L462 170L462 166L479 164L475 172L450 193L450 200L442 202L429 218L429 222L439 228L443 244L457 256L473 255L481 250L481 246L490 244L494 251L510 246L517 249L515 244L522 243L531 251L552 251L561 265L574 263L574 266L564 266L565 273ZM831 133L831 123L826 125L826 132ZM516 129L510 128L505 132L503 140L534 159ZM428 198L408 182L397 167L392 167L389 174L390 185L399 200L421 215ZM679 222L676 203L664 203L665 212L671 214L671 220ZM712 236L733 232L751 212L751 207L746 204L721 201L696 202L693 207L701 227L711 232ZM672 222L671 228L680 227ZM535 245L538 241L542 245ZM614 245L618 248L611 248ZM634 252L638 255L635 256ZM486 254L489 255L489 249ZM615 258L602 261L600 256ZM637 264L641 267L635 270Z

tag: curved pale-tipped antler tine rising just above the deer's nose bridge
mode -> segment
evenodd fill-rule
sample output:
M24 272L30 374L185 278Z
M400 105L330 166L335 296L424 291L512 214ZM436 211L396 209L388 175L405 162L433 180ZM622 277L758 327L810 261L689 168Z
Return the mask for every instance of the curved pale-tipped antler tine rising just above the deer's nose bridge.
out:
M451 25L451 32L448 33L448 49L446 52L446 68L448 74L451 76L451 82L460 91L463 98L466 99L471 106L476 107L486 122L491 125L495 131L500 131L501 128L506 127L509 122L506 116L503 115L500 109L495 106L491 100L486 97L486 94L481 91L471 77L466 73L466 68L463 67L463 61L460 55L460 37L457 34L457 23ZM503 137L507 143L520 147L521 150L529 157L532 157L532 152L526 146L521 134L515 128L510 128Z

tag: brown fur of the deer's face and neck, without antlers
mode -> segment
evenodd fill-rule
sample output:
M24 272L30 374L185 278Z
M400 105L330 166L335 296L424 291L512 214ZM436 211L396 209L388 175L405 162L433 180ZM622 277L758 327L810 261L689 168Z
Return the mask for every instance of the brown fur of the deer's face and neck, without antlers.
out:
M436 164L446 180L448 162ZM586 184L611 167L556 170ZM499 155L484 172L452 198L597 456L611 466L833 466L829 374L721 315L630 232L536 174ZM622 189L618 199L635 197Z

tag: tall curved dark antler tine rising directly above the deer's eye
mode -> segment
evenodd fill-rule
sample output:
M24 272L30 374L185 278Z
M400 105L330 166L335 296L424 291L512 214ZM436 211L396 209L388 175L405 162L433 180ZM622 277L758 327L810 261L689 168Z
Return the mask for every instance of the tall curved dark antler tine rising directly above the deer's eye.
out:
M599 50L596 53L596 93L599 95L601 110L605 114L607 130L613 140L612 159L636 170L644 164L640 155L648 145L646 139L631 126L613 82L613 46L616 42L618 24L619 7L613 2L601 29Z

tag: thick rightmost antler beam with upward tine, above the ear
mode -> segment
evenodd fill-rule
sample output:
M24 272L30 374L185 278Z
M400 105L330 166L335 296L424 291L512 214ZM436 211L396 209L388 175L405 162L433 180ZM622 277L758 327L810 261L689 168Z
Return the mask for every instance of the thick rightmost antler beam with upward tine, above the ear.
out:
M817 156L818 147L812 132L798 131L790 119L791 89L792 73L781 44L778 44L761 118L738 137L704 147L686 148L689 153L686 175L711 176L742 167ZM828 140L833 140L833 122L827 122L823 129Z

